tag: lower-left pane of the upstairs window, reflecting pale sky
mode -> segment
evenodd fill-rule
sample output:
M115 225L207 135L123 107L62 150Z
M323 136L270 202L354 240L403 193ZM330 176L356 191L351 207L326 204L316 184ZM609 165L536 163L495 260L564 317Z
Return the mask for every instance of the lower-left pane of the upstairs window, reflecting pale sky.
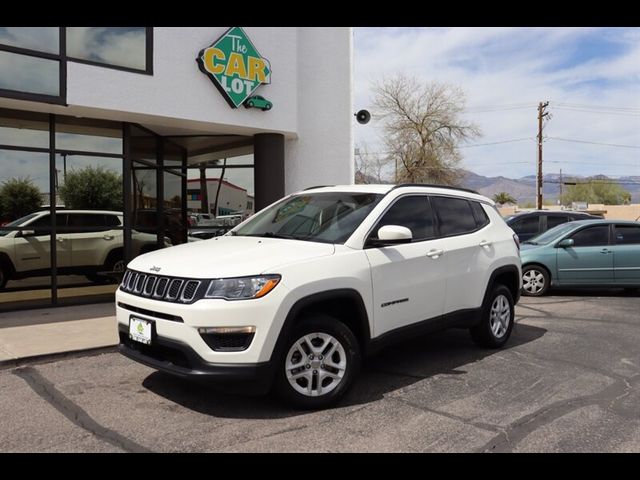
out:
M0 51L0 89L60 95L57 60Z

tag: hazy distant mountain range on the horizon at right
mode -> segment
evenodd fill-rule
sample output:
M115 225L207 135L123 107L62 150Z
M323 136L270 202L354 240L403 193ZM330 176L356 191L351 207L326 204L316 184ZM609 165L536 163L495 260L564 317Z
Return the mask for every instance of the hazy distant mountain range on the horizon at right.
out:
M519 203L535 202L536 198L536 177L528 175L522 178L507 177L485 177L469 170L461 170L464 177L462 186L476 190L482 195L493 197L496 193L507 192ZM640 203L640 175L611 178L606 175L593 175L585 177L583 175L562 175L563 180L582 179L583 181L590 179L611 180L622 182L620 186L631 193L631 201ZM552 183L555 182L555 183ZM560 175L557 173L549 173L544 175L542 182L542 195L545 200L557 200L560 196ZM567 188L565 185L564 188Z

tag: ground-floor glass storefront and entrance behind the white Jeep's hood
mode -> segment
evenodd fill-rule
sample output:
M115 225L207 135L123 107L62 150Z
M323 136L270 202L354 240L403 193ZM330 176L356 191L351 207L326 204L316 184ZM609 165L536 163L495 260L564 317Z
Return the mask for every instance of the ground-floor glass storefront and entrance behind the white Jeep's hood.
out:
M110 301L135 256L283 195L281 134L0 109L0 311Z

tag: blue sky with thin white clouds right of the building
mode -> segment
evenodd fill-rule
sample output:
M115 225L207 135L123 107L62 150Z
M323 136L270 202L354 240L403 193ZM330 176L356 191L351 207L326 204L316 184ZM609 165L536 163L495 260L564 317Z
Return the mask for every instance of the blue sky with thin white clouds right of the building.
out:
M545 173L640 175L640 148L574 141L640 147L640 28L355 28L355 110L374 114L356 146L383 150L371 86L396 72L465 91L483 136L461 150L464 168L534 174L536 108L549 101Z

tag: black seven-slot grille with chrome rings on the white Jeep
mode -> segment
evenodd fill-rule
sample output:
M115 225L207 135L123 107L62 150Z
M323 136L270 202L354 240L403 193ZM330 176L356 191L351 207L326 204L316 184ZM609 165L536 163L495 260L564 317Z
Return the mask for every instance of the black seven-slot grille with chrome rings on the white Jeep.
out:
M192 303L202 298L204 292L200 292L198 296L201 285L203 283L200 280L163 277L127 270L122 278L120 290L166 302Z

